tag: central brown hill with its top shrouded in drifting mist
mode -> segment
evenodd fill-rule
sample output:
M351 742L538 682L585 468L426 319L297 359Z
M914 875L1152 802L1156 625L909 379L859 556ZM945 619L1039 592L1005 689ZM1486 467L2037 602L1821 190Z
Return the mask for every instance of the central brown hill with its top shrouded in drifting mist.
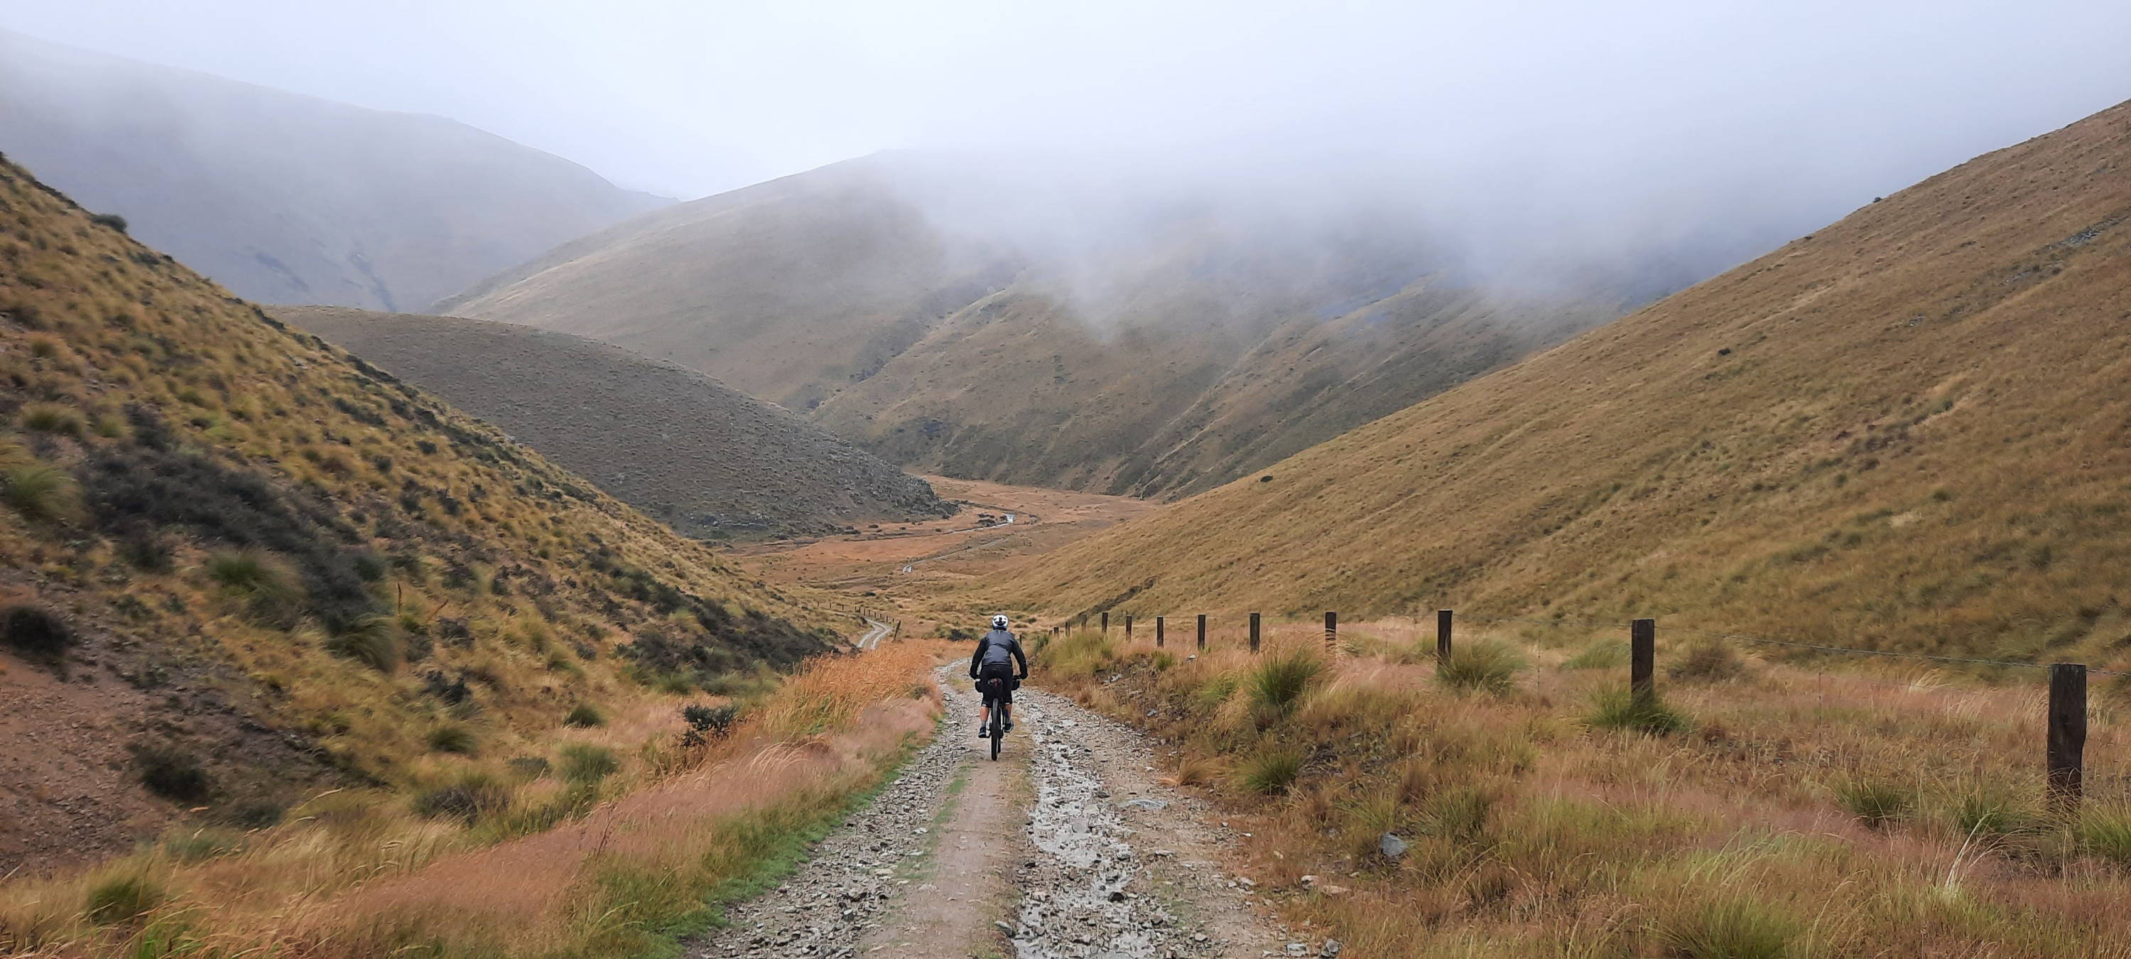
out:
M1046 249L942 226L942 164L882 153L654 211L437 311L673 360L916 471L1168 497L1641 296L1509 296L1404 226L1317 234L1198 207Z

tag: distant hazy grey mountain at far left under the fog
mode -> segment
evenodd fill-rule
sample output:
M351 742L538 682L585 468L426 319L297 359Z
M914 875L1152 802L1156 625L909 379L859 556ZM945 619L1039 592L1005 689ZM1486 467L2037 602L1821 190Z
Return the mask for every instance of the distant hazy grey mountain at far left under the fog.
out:
M413 309L665 202L443 117L9 32L0 149L262 303Z

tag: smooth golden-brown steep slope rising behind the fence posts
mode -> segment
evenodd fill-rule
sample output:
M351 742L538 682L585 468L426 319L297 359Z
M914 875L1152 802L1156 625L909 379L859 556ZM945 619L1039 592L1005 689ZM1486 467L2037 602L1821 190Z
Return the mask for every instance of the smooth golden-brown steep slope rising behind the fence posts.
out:
M1008 575L1038 607L2131 629L2131 104ZM1125 599L1129 597L1129 601Z

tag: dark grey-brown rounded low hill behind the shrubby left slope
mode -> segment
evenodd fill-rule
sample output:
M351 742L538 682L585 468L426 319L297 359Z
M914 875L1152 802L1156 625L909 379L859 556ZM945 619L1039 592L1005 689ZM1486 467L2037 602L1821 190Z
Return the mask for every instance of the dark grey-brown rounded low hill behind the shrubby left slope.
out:
M950 514L923 480L701 373L588 339L439 315L277 318L433 390L695 537Z

